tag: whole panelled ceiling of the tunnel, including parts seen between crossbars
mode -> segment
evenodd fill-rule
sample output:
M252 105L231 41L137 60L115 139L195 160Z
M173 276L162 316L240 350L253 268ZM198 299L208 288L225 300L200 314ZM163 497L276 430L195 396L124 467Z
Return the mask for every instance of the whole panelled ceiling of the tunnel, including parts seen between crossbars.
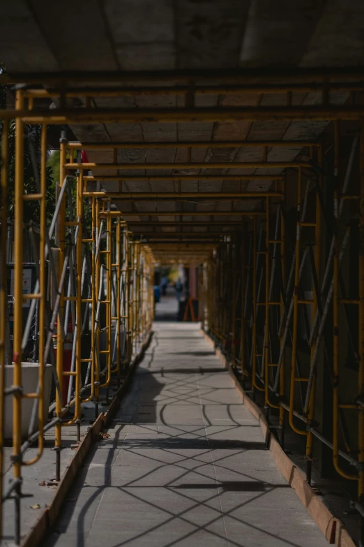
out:
M66 73L87 71L199 71L274 67L345 67L364 64L364 2L361 0L2 0L0 61L8 73ZM153 85L175 82L153 82ZM216 83L224 83L218 80ZM348 94L331 94L335 103ZM114 99L94 97L94 108L177 108L184 97L131 96ZM258 106L285 104L285 94L199 95L197 107ZM297 92L294 105L318 104L320 93ZM140 143L134 149L119 149L119 163L171 163L171 169L118 171L123 179L103 182L107 191L178 191L178 175L195 175L181 182L181 191L264 191L271 181L229 180L228 175L278 174L280 169L176 170L173 163L188 161L188 149L146 149L143 143L229 140L314 140L326 122L185 122L121 123L72 126L82 143ZM292 161L302 157L301 147L270 147L268 161ZM112 150L88 152L89 161L113 161ZM197 148L190 150L192 162L261 161L257 147ZM94 175L115 174L112 170ZM130 175L163 175L167 180L131 180ZM201 180L218 175L218 180ZM225 178L226 177L226 178ZM202 196L203 198L203 196ZM220 233L229 226L231 212L252 210L257 200L140 200L116 205L127 221L139 222L135 230L148 233L204 233L213 231L211 220L220 222ZM168 217L150 217L149 212L171 212ZM190 215L176 216L179 212ZM211 213L219 212L219 216ZM128 216L133 212L133 216ZM140 214L135 217L135 213ZM204 226L192 226L195 212L206 212ZM223 213L226 212L226 215ZM153 222L152 222L153 219ZM234 217L234 220L239 217ZM158 228L157 221L169 222ZM178 221L179 227L172 226ZM210 223L210 225L209 225ZM185 226L182 226L182 225Z

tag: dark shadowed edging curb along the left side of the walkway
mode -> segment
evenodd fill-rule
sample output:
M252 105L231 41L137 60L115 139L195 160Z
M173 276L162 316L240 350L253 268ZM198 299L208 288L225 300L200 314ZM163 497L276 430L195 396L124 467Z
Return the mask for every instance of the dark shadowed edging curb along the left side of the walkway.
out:
M116 411L119 409L121 398L130 386L130 381L132 379L132 375L135 372L135 368L144 357L144 353L151 342L152 336L153 332L150 332L148 338L146 339L146 342L142 344L142 349L139 351L137 356L135 356L134 360L130 364L128 374L123 381L123 385L115 393L107 412L98 416L98 419L95 421L95 423L93 423L93 425L91 425L91 428L89 428L89 431L82 439L82 442L79 444L75 455L73 456L70 464L68 465L66 471L62 476L61 482L59 483L59 486L56 490L50 506L44 509L43 513L40 515L36 523L34 523L29 532L26 534L26 536L22 540L21 547L38 546L40 542L44 539L46 534L48 534L50 530L52 530L52 527L61 509L61 505L63 504L68 490L73 484L79 467L81 467L82 462L86 457L86 454L91 448L91 445L96 442L100 433L105 428L109 427L112 418L116 414Z

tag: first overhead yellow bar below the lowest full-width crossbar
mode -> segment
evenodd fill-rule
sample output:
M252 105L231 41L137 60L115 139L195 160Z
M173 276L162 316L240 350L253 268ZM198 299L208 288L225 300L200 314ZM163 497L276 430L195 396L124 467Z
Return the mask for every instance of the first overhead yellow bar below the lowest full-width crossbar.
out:
M186 140L159 143L68 143L68 148L80 150L98 149L153 149L153 148L249 148L249 147L298 147L319 146L310 140Z

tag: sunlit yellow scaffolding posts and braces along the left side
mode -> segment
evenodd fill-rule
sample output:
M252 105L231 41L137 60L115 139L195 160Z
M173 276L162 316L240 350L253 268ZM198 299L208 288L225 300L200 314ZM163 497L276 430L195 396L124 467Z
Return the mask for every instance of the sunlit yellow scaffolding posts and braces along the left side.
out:
M17 109L23 108L24 96L17 91ZM62 430L77 426L80 441L82 403L92 401L98 416L100 390L108 398L112 377L120 385L122 373L151 330L153 293L151 251L128 231L121 213L110 210L105 194L91 195L83 170L70 175L66 159L72 163L74 149L61 138L59 195L50 226L46 221L47 126L42 125L40 166L30 143L36 192L23 193L24 123L16 119L15 133L15 211L14 240L8 242L8 122L3 122L1 145L1 217L0 217L0 488L2 504L15 502L15 544L20 544L22 467L33 465L43 455L44 434L55 428L56 481L61 479ZM32 293L23 294L24 200L38 200L39 226L27 228L31 252L36 265L36 285ZM75 208L75 210L74 210ZM56 241L54 245L53 241ZM14 254L13 289L13 384L5 385L6 317L8 287L6 256ZM58 260L54 257L57 255ZM47 268L49 265L49 268ZM52 302L47 291L52 286ZM48 291L49 292L49 291ZM29 301L29 314L23 329L24 301ZM36 322L34 322L36 321ZM35 330L34 330L35 328ZM70 330L70 332L68 332ZM84 338L88 330L90 355L84 358ZM34 331L34 332L33 332ZM37 384L28 393L22 380L22 356L30 333L36 340L32 360L38 363ZM69 340L69 338L71 340ZM56 348L53 347L56 340ZM54 351L54 349L56 351ZM70 370L65 368L65 351L71 353ZM45 368L52 365L56 400L54 417L45 421ZM68 379L68 390L63 380ZM3 426L6 420L6 398L13 398L13 480L3 488ZM22 437L22 402L33 400L29 432ZM69 411L73 415L67 418ZM38 451L31 460L25 454L36 443ZM1 530L0 530L1 534Z

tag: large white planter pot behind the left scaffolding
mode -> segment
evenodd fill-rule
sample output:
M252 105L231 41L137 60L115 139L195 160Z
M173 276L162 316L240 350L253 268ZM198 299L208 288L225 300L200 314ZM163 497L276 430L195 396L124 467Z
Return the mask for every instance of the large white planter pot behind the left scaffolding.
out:
M13 365L5 367L5 385L7 388L13 386ZM22 386L24 393L36 393L38 386L39 363L22 363ZM48 417L48 409L50 407L50 392L52 388L52 365L45 366L44 374L44 421L46 423ZM6 395L4 398L4 437L12 439L13 437L13 395ZM31 411L33 409L33 399L22 400L22 438L28 437L29 424L31 421ZM36 420L36 428L38 430L38 419ZM33 431L33 432L34 432Z

